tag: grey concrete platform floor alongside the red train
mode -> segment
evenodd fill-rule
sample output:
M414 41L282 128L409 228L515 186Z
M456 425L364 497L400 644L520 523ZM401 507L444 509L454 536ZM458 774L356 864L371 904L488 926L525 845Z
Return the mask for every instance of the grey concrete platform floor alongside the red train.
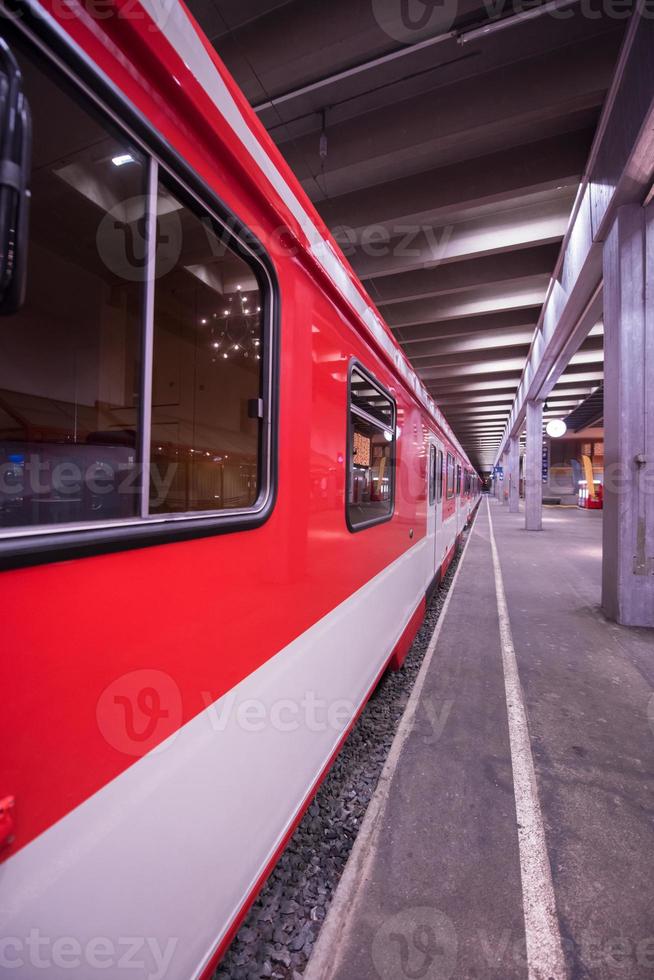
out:
M552 508L543 532L523 526L482 501L307 980L654 977L654 634L599 610L601 513ZM549 906L537 834L516 818L520 699Z

